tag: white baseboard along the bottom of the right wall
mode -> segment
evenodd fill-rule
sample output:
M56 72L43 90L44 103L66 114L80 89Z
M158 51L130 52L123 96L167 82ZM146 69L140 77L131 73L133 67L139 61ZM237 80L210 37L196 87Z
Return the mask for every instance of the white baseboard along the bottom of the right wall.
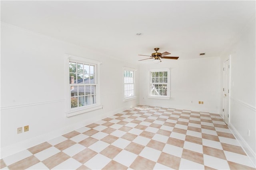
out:
M238 133L236 128L229 123L229 129L233 133L233 135L236 137L244 151L246 152L247 156L250 158L252 161L252 164L254 165L254 168L256 167L256 157L255 157L255 152L252 150L252 148L246 143L246 141L243 139L243 137Z

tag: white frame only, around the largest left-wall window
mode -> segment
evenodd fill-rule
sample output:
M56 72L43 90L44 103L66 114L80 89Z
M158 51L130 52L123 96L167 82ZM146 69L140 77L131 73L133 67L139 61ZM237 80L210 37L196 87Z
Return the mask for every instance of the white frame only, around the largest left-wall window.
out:
M69 62L77 62L77 63L84 63L84 64L92 64L95 65L95 77L94 81L96 85L96 104L91 104L88 106L80 106L80 107L75 107L71 108L71 94L70 94L70 79L69 79ZM77 57L74 55L66 55L65 59L65 109L66 109L66 116L74 116L82 113L86 113L88 111L93 111L96 109L101 109L102 105L100 104L100 62L91 60L91 59L86 59L83 57Z

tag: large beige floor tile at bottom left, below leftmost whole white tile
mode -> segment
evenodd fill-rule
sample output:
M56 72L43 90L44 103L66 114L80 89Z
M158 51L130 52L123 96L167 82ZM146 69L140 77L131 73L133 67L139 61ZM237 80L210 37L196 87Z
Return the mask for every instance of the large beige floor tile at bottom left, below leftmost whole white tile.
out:
M18 162L15 162L14 164L11 164L8 166L10 170L24 170L29 168L30 166L33 166L34 164L37 164L40 162L36 156L32 155L28 158L22 159Z

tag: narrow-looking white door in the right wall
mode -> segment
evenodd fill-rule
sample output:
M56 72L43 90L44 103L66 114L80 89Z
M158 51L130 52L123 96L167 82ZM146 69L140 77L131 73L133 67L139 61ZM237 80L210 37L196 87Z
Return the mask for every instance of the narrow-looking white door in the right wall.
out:
M229 94L230 94L230 60L224 62L223 68L223 119L229 125Z

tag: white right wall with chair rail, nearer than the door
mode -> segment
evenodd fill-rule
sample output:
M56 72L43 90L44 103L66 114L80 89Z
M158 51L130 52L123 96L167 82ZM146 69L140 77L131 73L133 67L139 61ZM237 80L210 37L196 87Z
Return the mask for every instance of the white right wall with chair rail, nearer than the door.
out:
M230 63L230 129L256 164L256 43L255 16L222 55ZM222 115L223 116L223 115ZM250 130L250 136L248 136Z

